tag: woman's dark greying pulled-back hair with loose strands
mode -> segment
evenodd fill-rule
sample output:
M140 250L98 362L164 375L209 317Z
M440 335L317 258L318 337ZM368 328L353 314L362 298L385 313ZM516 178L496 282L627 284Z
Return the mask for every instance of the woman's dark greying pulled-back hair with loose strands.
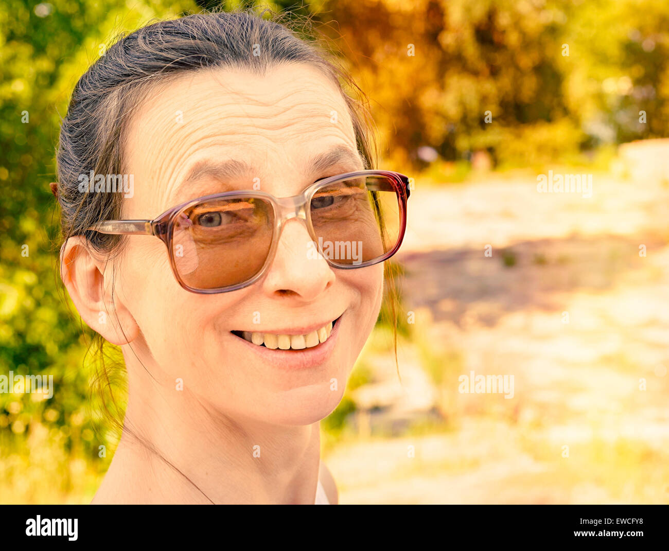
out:
M269 10L261 14L250 9L218 11L158 21L119 37L77 82L60 128L56 156L58 183L52 191L61 209L61 242L74 235L85 235L87 243L107 257L122 251L126 237L86 231L99 221L121 218L122 194L81 193L78 177L90 171L127 173L123 166L124 138L133 112L148 90L187 72L244 68L264 74L268 68L281 64L317 68L341 91L366 168L375 167L377 150L367 96L337 56L322 47L318 39L300 36L290 28L298 21ZM257 45L255 50L254 45ZM385 273L392 281L391 269L385 269ZM396 310L395 293L391 284L392 318ZM112 378L104 364L105 343L96 333L90 348L97 348L101 360L97 382L111 389ZM393 343L397 362L396 327ZM113 393L110 395L114 408L120 411ZM100 396L104 412L117 428L122 428L120 421L110 415L104 390Z

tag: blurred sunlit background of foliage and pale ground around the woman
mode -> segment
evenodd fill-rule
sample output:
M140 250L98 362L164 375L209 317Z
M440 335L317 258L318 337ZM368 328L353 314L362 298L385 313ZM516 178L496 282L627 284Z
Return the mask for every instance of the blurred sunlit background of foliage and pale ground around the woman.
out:
M0 6L0 375L56 387L0 393L0 503L90 502L118 438L54 273L72 88L118 33L217 4ZM399 376L382 316L321 423L340 502L669 502L669 3L259 4L341 50L380 168L414 179ZM539 193L549 171L591 178L591 197ZM489 374L512 397L464 392Z

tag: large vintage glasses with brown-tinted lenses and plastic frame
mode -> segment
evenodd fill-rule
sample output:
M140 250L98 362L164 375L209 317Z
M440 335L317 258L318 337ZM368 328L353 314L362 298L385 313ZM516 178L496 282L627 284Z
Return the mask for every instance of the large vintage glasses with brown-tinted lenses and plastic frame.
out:
M282 226L304 220L304 251L341 269L382 262L399 249L407 223L409 179L390 171L328 177L294 197L227 191L191 199L153 220L107 220L88 231L148 234L167 246L177 282L195 293L235 291L262 278Z

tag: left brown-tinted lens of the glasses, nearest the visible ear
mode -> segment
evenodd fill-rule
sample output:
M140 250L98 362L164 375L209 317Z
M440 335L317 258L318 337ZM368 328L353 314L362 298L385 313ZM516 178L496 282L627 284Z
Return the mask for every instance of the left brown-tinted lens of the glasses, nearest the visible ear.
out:
M272 231L274 211L264 199L216 199L188 207L173 222L179 277L200 290L244 283L264 265Z

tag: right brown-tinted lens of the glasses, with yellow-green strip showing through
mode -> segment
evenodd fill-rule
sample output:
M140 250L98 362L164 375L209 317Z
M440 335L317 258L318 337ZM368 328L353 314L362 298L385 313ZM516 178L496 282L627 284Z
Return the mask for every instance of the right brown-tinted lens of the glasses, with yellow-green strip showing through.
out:
M333 263L361 264L397 244L399 198L386 176L367 176L328 185L311 200L318 251Z

